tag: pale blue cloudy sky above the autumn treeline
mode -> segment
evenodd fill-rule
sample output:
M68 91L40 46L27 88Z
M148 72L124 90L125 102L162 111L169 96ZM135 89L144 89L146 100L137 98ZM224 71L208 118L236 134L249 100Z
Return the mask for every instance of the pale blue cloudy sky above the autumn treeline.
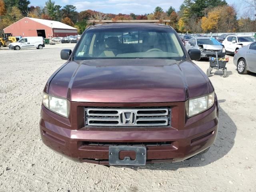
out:
M145 14L152 13L156 6L160 6L166 11L170 6L176 10L179 9L183 0L54 0L56 4L65 6L72 4L76 6L78 12L83 10L96 10L103 13L123 13L123 14ZM233 4L238 0L226 0L229 4ZM44 6L44 0L30 0L30 5ZM39 3L40 2L40 3Z

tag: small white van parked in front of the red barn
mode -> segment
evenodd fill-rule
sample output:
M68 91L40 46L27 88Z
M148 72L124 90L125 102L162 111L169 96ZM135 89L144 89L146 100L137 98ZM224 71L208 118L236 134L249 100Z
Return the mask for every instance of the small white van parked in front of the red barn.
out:
M18 42L10 43L9 48L14 50L44 47L43 37L22 37Z

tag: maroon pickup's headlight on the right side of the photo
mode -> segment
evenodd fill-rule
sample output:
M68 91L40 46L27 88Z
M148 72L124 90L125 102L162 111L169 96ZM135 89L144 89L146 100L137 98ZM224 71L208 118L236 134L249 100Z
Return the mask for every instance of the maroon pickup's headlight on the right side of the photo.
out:
M197 98L191 98L186 101L186 113L188 117L199 114L214 104L214 92Z

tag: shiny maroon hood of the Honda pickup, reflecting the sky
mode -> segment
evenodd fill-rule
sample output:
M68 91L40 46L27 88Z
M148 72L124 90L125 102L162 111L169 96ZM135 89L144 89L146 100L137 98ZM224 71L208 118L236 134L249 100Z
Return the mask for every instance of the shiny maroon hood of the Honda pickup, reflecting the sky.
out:
M212 91L190 61L96 59L66 64L48 93L73 102L178 102Z

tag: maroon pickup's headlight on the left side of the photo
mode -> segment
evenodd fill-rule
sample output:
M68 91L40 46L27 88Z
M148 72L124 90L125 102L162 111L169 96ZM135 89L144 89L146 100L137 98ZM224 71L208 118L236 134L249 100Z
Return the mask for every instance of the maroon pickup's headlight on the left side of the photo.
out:
M52 112L68 118L68 100L48 95L43 92L43 105Z

